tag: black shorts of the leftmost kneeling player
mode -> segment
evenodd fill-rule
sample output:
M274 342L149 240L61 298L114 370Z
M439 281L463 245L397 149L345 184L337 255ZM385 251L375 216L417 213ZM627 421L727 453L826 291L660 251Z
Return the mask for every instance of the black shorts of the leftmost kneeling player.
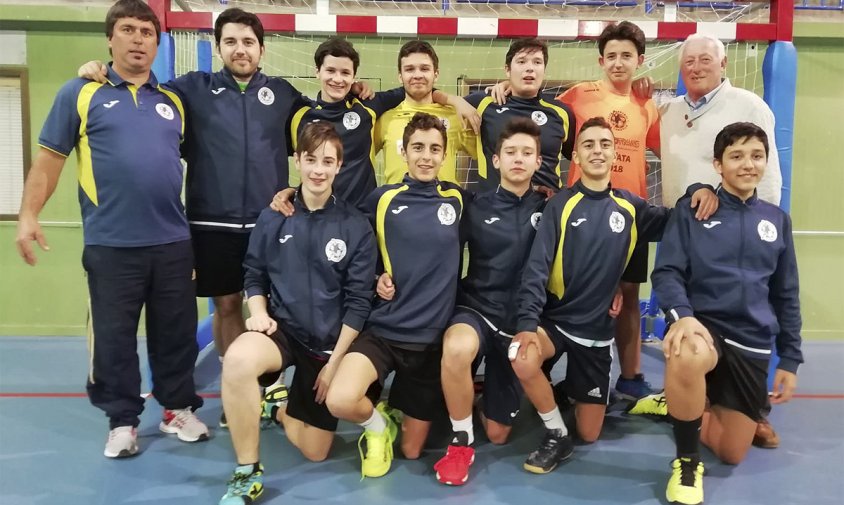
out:
M316 391L313 389L317 376L322 367L328 363L328 356L320 356L277 330L269 337L281 353L282 370L290 366L296 367L293 381L287 394L287 415L325 431L337 430L337 418L331 415L325 402L316 402ZM266 373L258 377L258 383L267 387L275 383L281 370Z

